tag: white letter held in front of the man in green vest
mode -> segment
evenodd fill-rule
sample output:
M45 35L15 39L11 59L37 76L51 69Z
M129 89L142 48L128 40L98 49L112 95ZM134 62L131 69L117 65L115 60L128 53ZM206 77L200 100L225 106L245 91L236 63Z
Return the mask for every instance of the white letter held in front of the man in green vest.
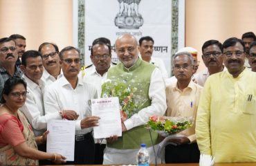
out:
M93 116L100 117L99 126L93 127L94 138L122 136L120 106L117 97L92 99L91 113Z

